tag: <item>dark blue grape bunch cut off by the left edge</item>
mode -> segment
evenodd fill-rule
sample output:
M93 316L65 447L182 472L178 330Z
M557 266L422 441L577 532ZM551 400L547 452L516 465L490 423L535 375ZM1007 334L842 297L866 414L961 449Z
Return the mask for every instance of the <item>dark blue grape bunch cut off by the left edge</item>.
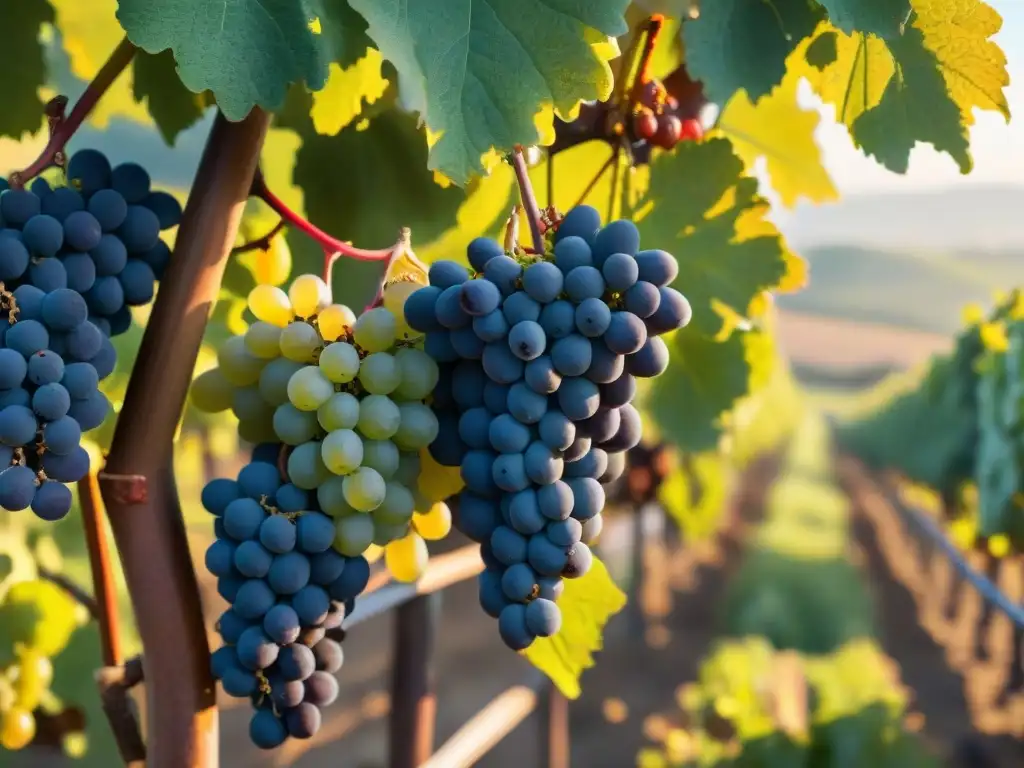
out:
M0 507L44 520L71 510L66 483L89 471L82 434L111 404L111 337L148 303L170 250L160 239L181 206L134 163L76 153L68 184L0 179Z

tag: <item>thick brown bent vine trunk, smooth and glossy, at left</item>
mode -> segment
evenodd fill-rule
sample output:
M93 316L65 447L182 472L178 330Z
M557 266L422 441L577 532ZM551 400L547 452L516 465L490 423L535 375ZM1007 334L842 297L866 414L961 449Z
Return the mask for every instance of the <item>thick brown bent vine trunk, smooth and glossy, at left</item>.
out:
M146 768L218 764L216 685L174 436L268 124L260 109L214 121L99 475L145 652Z

